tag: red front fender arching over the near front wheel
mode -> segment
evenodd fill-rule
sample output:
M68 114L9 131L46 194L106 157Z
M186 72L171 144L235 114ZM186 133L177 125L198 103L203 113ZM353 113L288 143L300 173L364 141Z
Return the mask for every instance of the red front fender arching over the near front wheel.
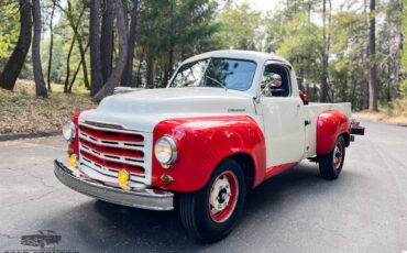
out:
M177 161L165 169L153 154L152 185L174 191L195 191L209 180L216 166L227 156L245 153L254 162L254 183L264 178L266 150L264 135L257 123L246 116L195 117L169 119L154 129L154 143L163 135L177 144ZM174 178L165 185L161 176Z

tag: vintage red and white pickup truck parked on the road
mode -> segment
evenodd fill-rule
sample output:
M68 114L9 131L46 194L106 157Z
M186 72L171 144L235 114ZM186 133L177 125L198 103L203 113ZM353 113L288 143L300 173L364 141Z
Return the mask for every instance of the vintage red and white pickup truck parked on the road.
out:
M217 51L185 61L163 89L118 90L64 127L66 186L103 201L173 210L193 237L231 232L246 191L309 158L342 170L350 103L308 103L290 64L273 54Z

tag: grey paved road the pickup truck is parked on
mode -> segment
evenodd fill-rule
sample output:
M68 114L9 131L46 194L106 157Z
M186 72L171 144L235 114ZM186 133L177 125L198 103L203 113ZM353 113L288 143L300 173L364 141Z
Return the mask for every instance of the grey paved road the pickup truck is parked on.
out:
M364 122L334 182L304 162L264 183L226 240L207 245L185 234L176 212L94 200L53 174L61 138L0 143L0 252L37 230L79 252L395 252L407 250L407 128Z

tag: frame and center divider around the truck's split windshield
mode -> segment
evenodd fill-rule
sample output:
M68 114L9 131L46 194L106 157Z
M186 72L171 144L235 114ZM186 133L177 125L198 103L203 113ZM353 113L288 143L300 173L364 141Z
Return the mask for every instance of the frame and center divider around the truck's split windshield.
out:
M255 78L256 72L257 72L257 63L255 61L246 59L246 58L219 57L219 56L218 57L206 57L206 58L200 58L200 59L196 59L196 61L193 61L193 62L183 63L182 65L179 65L179 67L176 69L176 72L174 72L173 77L170 78L170 80L167 85L167 88L188 88L188 87L174 87L173 86L174 79L175 79L176 75L179 73L179 70L182 69L182 67L185 66L185 65L194 65L194 64L199 63L199 62L208 61L206 63L205 70L201 73L199 79L197 80L198 84L200 84L204 80L205 74L207 73L208 67L211 64L212 59L227 59L227 61L253 63L254 64L254 70L253 70L253 75L252 75L251 80L250 80L250 85L245 89L233 89L233 88L229 88L229 87L208 87L208 86L194 86L194 88L221 88L221 89L227 89L227 90L231 89L231 90L235 90L235 91L248 91L249 89L252 88L253 81L254 81L254 78Z

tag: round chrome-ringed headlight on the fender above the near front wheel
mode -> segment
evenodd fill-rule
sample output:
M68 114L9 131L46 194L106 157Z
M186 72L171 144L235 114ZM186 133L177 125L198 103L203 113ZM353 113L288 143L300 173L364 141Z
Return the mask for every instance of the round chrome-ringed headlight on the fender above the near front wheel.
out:
M163 165L169 165L177 158L177 146L169 136L163 136L157 140L154 146L154 154L157 161Z

